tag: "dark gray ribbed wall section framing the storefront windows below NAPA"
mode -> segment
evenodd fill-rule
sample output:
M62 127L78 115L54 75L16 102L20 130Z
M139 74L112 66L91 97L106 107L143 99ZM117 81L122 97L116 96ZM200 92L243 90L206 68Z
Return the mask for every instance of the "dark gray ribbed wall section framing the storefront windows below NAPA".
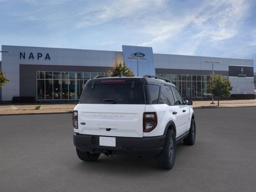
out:
M20 96L36 98L36 71L106 72L111 69L96 66L20 65Z

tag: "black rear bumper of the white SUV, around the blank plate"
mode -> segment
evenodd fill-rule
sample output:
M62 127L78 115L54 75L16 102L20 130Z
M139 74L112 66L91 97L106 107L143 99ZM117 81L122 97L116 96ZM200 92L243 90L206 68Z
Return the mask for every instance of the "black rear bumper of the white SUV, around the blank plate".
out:
M165 135L155 137L116 137L116 147L100 146L100 136L73 134L74 145L83 152L104 153L111 151L116 155L154 157L162 152Z

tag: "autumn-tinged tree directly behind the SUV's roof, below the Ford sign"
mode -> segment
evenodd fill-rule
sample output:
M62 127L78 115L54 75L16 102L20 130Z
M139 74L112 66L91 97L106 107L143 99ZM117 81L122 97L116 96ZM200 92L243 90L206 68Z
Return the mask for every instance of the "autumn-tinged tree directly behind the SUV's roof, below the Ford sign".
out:
M110 77L134 77L134 73L131 70L131 68L127 67L125 62L118 64L116 61L115 64L113 64L113 70L108 71L108 76Z

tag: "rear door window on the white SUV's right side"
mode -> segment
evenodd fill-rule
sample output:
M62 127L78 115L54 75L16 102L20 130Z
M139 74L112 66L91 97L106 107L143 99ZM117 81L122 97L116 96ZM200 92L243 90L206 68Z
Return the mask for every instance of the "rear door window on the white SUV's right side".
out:
M174 105L174 97L170 86L161 85L159 104Z

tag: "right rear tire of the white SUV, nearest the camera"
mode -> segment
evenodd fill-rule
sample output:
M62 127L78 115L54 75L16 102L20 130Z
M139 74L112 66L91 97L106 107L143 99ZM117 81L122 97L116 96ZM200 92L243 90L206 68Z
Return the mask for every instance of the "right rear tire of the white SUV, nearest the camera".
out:
M164 141L163 150L155 160L158 168L160 169L172 169L176 156L176 138L173 130L168 129L166 138Z

